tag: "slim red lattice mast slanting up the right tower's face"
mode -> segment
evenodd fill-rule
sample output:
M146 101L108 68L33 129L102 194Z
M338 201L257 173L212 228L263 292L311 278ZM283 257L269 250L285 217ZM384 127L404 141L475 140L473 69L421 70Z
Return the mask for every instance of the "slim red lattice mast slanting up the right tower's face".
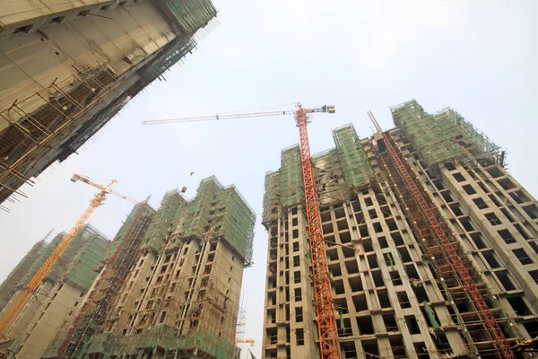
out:
M428 202L422 195L421 190L417 187L414 180L412 180L411 174L409 173L409 171L407 171L404 162L402 162L400 156L391 144L389 136L387 136L386 133L383 132L383 130L377 123L376 118L374 118L374 115L370 111L368 111L368 115L374 127L376 127L376 130L383 137L383 142L385 144L386 150L389 153L391 160L394 162L397 171L403 178L405 187L412 193L412 197L419 205L421 215L426 219L426 222L430 227L430 231L438 238L438 241L440 241L441 250L443 250L447 254L447 258L450 260L451 265L455 269L457 276L459 276L462 280L464 284L464 292L467 293L476 303L482 320L485 322L487 328L489 328L490 330L490 334L495 338L496 342L499 345L500 354L503 358L515 358L516 356L512 352L507 338L504 336L502 330L499 328L497 320L495 320L495 317L491 313L488 304L485 302L477 285L474 283L473 277L470 275L467 268L464 266L464 261L462 260L462 258L459 257L453 244L449 241L447 234L441 226L441 223L438 222L436 215L428 205ZM424 245L428 246L426 241L424 242Z

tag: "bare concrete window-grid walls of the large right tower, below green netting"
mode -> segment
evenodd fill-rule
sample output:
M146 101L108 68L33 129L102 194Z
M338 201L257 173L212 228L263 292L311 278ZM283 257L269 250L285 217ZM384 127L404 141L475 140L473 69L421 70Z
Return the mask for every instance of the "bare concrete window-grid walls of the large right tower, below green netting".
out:
M492 303L505 336L512 343L516 337L536 337L538 205L534 197L499 165L484 168L455 162L428 169L397 129L391 136L438 206L448 230L456 233L479 268L486 284L482 295ZM470 323L476 314L464 300L448 300L430 266L433 258L423 254L421 238L413 234L409 209L400 205L400 192L379 163L374 142L366 139L362 144L377 174L374 183L351 196L343 193L343 200L320 196L342 357L472 355L455 312L461 311ZM324 165L330 162L317 163L321 169ZM262 356L319 357L310 259L305 255L305 211L299 205L282 208L274 218L265 223L269 241ZM463 290L459 293L464 295ZM438 329L426 315L425 302ZM505 324L507 319L512 324ZM491 342L482 334L473 332L473 341L483 341L486 350Z

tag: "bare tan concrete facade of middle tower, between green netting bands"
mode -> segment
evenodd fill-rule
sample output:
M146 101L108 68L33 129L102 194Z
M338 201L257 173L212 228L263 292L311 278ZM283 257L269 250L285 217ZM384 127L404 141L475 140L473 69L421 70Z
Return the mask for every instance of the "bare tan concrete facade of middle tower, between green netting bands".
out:
M125 336L161 324L188 335L204 328L231 344L244 263L221 241L170 242L159 256L141 253L117 297L107 330Z

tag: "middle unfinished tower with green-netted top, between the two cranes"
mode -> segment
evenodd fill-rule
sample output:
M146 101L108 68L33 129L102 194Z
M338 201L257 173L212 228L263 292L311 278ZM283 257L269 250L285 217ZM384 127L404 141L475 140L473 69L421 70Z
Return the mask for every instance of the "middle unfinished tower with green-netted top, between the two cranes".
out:
M236 358L254 211L237 188L211 177L192 200L171 190L147 221L132 215L82 308L42 357Z

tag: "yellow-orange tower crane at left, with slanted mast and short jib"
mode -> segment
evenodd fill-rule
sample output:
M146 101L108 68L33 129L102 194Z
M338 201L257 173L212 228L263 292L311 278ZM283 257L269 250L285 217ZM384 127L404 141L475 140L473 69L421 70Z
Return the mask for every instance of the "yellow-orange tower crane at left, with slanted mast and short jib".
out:
M43 278L48 275L50 269L52 269L56 261L65 252L65 249L67 249L67 246L69 246L69 244L74 240L74 237L77 235L77 233L80 232L82 226L88 221L88 218L90 218L91 214L93 214L97 207L104 204L108 193L126 199L129 202L137 203L136 199L122 195L121 193L118 193L112 189L112 185L114 183L117 183L117 180L111 180L107 186L103 186L92 182L86 176L81 176L76 173L71 180L74 182L76 182L77 180L81 180L82 182L89 184L90 186L99 188L100 193L95 195L95 197L91 200L90 206L88 206L88 208L79 218L79 220L74 223L74 226L71 231L69 231L65 235L64 239L60 241L56 249L53 250L50 256L48 256L45 263L43 263L43 265L39 268L38 272L30 279L28 285L26 285L26 287L22 289L22 292L17 295L17 298L15 298L12 301L12 304L6 309L2 318L0 318L0 336L6 336L6 332L9 329L10 325L13 323L13 320L17 317L17 315L19 315L24 305L26 305L26 303L29 301L32 293L34 293L36 289L38 289L38 286L43 280Z

